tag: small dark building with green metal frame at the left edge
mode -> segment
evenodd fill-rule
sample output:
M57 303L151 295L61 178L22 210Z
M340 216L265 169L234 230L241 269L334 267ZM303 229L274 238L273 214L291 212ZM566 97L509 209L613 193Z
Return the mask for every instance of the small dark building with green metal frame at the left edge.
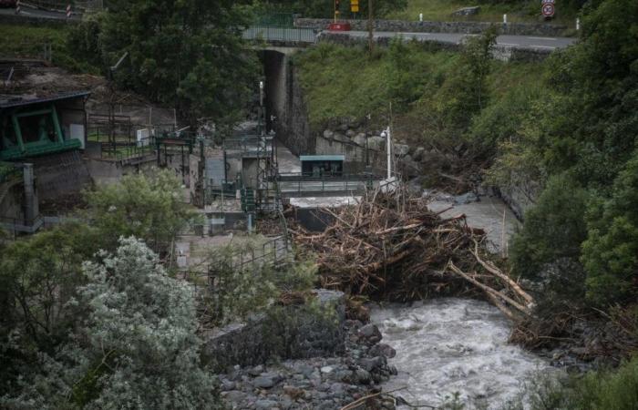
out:
M0 96L0 160L84 149L89 94L75 91L49 97Z

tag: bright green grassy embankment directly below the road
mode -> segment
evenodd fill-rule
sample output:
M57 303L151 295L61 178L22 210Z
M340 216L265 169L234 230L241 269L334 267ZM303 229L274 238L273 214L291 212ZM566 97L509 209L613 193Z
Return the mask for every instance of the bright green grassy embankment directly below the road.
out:
M378 49L376 56L370 58L363 47L320 44L297 55L295 64L304 87L311 127L317 128L331 118L364 118L368 113L373 113L378 122L385 122L396 77L408 78L408 89L413 93L406 104L393 108L395 116L418 122L428 115L428 110L445 110L455 96L458 53L428 52L413 44L407 47L406 69L398 74L387 49ZM521 88L539 87L542 75L538 63L495 61L487 81L490 104L498 104ZM407 128L414 132L414 127Z

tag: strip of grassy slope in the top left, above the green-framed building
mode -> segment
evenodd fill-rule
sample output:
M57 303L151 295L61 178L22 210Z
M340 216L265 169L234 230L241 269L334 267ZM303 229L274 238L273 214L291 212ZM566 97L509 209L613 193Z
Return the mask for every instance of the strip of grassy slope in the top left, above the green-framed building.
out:
M53 64L71 71L98 74L98 67L71 56L65 26L0 26L0 56L42 58L46 43L51 45Z

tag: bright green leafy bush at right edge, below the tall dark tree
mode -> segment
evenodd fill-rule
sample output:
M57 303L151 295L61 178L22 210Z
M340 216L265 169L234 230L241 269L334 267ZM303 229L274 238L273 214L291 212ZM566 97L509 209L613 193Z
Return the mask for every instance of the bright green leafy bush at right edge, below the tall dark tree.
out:
M638 151L613 184L612 198L592 201L582 244L587 296L608 304L638 292Z

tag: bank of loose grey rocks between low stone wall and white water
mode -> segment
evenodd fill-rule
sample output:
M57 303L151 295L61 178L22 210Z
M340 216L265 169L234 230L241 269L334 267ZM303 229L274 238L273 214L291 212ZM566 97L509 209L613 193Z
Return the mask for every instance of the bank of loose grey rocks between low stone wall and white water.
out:
M380 343L375 324L345 321L345 354L286 360L250 367L233 366L220 374L221 396L232 409L334 410L376 393L396 367L395 350ZM394 409L386 399L378 408Z

